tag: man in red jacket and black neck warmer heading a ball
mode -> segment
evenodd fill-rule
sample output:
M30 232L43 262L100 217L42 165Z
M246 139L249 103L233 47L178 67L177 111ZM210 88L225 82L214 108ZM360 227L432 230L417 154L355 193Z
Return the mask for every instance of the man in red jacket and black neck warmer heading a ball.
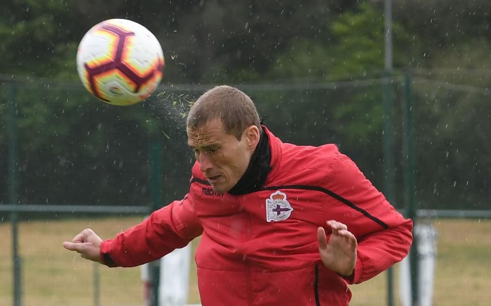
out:
M346 306L348 284L409 251L405 220L335 145L283 143L242 91L218 86L191 107L196 162L181 201L102 241L85 229L68 250L110 267L158 259L202 235L204 306Z

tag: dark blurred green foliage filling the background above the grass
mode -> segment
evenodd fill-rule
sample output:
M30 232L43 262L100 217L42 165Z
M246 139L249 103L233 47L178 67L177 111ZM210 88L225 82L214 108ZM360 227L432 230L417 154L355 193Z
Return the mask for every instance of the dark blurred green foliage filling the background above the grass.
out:
M183 145L183 109L172 102L223 83L246 90L285 141L337 143L383 187L383 88L371 81L384 76L382 1L10 0L3 8L0 154L7 156L13 100L22 204L146 205L152 141L164 146L164 203L182 197L192 156ZM419 206L489 208L490 13L486 0L393 1L388 132L395 137L398 207L405 163L400 76L410 72ZM77 46L109 18L134 20L158 37L166 58L161 95L118 108L85 93ZM363 82L344 83L354 80ZM7 201L7 160L0 161L0 203Z

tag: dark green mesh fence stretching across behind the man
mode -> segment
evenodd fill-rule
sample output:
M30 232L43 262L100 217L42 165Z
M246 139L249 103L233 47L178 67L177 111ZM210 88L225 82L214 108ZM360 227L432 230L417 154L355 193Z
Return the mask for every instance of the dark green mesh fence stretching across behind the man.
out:
M473 76L412 71L236 86L280 138L337 144L410 217L489 218L489 77ZM187 103L210 87L162 85L144 103L114 107L78 83L3 77L0 215L12 221L13 275L20 275L22 257L17 220L138 215L181 198L193 161L185 142ZM21 301L20 288L17 277L14 301Z

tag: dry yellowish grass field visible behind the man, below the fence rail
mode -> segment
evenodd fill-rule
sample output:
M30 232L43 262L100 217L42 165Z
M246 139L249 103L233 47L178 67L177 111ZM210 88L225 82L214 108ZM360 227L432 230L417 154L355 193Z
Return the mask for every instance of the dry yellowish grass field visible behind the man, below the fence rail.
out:
M24 306L93 305L95 264L66 251L61 243L81 229L102 238L140 222L141 217L48 220L19 224ZM491 221L436 220L438 232L435 306L485 306L491 301ZM12 305L11 225L0 222L0 305ZM196 247L197 241L193 241ZM398 299L397 265L395 267ZM99 267L101 306L143 305L140 269ZM386 305L385 273L351 286L351 306ZM190 303L199 303L195 267L191 271ZM396 301L396 305L399 305Z

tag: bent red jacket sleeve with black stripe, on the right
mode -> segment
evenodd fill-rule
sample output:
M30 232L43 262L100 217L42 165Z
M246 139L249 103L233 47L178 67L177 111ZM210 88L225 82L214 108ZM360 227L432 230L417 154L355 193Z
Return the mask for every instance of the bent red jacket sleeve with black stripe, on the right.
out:
M340 155L333 166L335 190L346 205L345 223L358 241L355 271L348 283L369 280L408 255L412 220L404 219L355 163Z

